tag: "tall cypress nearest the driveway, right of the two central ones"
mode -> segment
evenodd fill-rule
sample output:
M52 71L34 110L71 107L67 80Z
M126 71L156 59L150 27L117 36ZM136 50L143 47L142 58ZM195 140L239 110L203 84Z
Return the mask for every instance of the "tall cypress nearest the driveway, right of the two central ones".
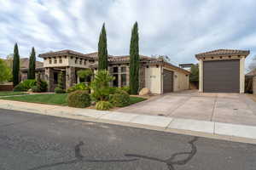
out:
M133 25L131 31L131 44L130 44L130 89L131 94L137 94L139 89L139 37L137 22Z

